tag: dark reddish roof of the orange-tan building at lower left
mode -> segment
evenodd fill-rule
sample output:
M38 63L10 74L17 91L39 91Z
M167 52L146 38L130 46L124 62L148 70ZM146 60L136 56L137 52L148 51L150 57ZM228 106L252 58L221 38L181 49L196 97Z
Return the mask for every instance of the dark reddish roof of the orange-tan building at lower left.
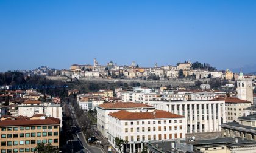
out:
M0 127L2 126L33 126L33 125L49 125L49 124L60 124L60 120L54 117L48 117L46 119L38 120L3 120L0 121Z

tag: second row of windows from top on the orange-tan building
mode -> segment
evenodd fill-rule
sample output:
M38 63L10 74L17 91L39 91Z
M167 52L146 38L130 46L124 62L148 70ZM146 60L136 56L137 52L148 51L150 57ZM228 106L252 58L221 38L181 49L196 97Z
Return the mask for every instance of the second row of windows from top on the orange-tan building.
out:
M52 136L52 134L54 136L59 135L58 132L37 132L37 133L20 133L20 134L1 134L1 138L24 138L24 137L35 137L37 135L37 137L41 137L43 135L43 137L46 136Z

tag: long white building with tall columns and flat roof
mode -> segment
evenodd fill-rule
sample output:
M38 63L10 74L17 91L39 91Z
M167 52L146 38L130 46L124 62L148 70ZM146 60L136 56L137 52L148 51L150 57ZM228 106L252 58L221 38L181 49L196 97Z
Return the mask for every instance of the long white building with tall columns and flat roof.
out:
M221 131L226 122L224 100L142 101L173 114L185 116L187 133Z

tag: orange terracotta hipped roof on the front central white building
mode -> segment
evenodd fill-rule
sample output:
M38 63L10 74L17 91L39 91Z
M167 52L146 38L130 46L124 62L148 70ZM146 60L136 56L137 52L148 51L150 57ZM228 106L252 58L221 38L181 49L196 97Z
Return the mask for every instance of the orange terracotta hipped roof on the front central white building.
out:
M154 112L128 112L121 110L119 112L113 112L109 114L112 117L118 118L119 120L146 120L156 118L182 118L183 116L172 114L170 112L155 110Z

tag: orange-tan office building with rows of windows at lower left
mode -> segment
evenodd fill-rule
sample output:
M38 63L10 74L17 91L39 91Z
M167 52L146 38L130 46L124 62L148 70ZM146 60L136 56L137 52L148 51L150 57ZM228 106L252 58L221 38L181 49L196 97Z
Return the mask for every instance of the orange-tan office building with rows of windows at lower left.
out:
M38 143L59 148L60 120L53 117L14 118L0 121L1 152L34 152Z

